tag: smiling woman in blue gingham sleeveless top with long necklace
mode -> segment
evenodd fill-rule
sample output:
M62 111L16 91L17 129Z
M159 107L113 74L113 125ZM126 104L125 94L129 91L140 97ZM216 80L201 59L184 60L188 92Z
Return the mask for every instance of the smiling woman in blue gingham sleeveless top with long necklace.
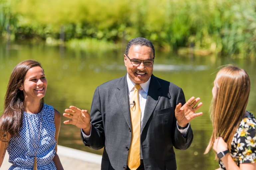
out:
M57 155L61 115L44 104L47 80L41 64L19 63L12 71L0 118L0 167L6 150L9 170L62 170Z

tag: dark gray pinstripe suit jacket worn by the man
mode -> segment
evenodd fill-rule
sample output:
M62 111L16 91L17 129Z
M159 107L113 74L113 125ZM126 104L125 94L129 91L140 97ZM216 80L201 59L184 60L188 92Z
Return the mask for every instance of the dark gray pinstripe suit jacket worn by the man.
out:
M193 139L189 127L186 138L178 131L174 114L178 103L185 103L183 90L151 76L141 131L145 170L176 170L176 149L187 149ZM127 167L131 144L131 118L126 76L98 86L91 105L91 136L84 144L92 149L104 147L101 169Z

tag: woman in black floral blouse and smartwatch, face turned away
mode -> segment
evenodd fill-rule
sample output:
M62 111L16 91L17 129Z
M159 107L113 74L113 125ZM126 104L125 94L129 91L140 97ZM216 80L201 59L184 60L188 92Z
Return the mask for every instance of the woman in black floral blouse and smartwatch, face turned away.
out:
M213 133L205 154L212 147L218 170L256 170L256 120L246 111L250 93L248 74L238 67L219 70L212 88Z

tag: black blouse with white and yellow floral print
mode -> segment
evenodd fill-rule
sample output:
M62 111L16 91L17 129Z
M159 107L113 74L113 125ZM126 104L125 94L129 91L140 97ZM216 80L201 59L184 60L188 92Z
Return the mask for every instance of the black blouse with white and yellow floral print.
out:
M250 112L248 112L250 113ZM237 164L256 162L256 119L252 113L244 117L231 142L231 157ZM222 161L219 161L220 169L226 170Z

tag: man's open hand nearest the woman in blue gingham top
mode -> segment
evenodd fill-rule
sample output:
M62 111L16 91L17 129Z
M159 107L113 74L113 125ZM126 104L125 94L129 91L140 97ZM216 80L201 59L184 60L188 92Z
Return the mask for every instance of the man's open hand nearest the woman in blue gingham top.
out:
M64 121L64 124L72 124L78 128L82 128L85 135L91 133L91 118L87 110L81 110L75 106L70 106L69 109L65 109L66 113L63 113L64 117L71 120Z

